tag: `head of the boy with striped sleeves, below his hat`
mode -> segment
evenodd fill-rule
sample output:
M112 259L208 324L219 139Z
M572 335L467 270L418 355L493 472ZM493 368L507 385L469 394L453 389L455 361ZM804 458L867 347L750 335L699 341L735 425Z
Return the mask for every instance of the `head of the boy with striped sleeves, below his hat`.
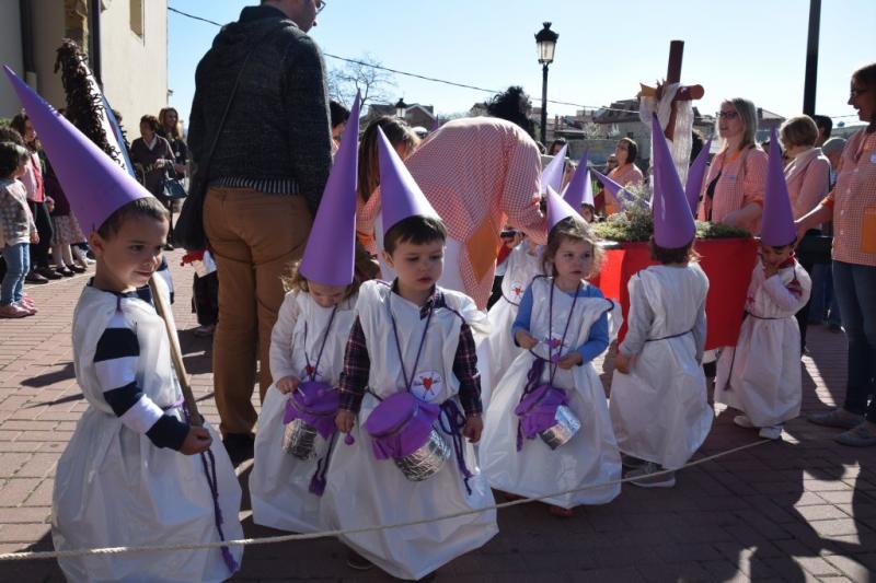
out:
M118 292L146 285L161 265L166 242L168 221L151 217L131 217L107 238L93 232L89 244L97 258L95 283Z

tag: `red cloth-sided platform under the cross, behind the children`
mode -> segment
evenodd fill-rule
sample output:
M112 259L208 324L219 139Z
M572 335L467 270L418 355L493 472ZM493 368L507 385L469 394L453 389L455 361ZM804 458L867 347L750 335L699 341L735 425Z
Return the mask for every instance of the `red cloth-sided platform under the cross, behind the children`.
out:
M702 257L700 266L708 276L705 301L708 333L705 348L734 346L742 323L758 244L753 238L700 238L695 248ZM639 269L650 265L657 265L657 261L650 258L647 243L621 243L620 248L606 250L602 270L592 280L606 298L621 301L624 323L618 336L619 341L626 334L626 314L630 311L626 282Z

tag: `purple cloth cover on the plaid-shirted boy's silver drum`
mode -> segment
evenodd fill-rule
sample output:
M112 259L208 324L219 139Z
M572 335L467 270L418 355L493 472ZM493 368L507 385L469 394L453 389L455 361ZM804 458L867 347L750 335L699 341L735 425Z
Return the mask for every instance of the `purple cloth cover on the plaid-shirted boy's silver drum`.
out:
M390 459L413 454L429 441L433 423L440 413L438 405L422 401L408 392L387 397L365 422L374 457Z

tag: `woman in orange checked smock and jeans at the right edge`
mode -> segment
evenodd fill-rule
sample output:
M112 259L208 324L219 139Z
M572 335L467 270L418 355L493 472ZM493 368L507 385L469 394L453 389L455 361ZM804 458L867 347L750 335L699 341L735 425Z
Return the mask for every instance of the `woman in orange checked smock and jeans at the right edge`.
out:
M834 223L833 291L849 340L845 401L809 421L848 429L838 442L866 446L876 445L876 62L852 74L849 105L868 126L846 142L837 186L797 221L797 233Z

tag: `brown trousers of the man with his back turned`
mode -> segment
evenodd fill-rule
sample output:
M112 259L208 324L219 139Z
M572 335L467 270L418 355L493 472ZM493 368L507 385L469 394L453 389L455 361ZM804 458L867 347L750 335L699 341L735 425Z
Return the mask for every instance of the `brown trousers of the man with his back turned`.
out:
M302 196L249 188L207 190L204 229L219 273L212 371L223 435L250 433L255 425L256 360L264 399L272 383L270 331L284 298L280 276L301 258L312 222Z

